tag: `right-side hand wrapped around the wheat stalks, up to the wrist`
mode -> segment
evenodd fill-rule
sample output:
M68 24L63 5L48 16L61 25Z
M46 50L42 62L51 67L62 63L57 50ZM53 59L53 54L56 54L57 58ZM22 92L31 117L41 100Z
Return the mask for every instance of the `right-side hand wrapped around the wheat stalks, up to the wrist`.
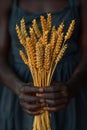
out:
M63 83L55 83L53 86L42 88L43 93L39 94L42 103L45 103L44 110L55 112L65 108L70 101L68 87Z

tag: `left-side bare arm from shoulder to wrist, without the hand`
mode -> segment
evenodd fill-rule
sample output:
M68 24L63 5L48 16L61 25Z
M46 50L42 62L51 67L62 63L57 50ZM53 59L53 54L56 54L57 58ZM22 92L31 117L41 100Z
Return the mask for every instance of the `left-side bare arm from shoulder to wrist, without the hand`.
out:
M8 65L8 52L10 47L10 36L8 32L9 10L2 10L0 15L0 81L3 82L14 93L18 94L17 87L21 87L22 81L18 79L15 73Z

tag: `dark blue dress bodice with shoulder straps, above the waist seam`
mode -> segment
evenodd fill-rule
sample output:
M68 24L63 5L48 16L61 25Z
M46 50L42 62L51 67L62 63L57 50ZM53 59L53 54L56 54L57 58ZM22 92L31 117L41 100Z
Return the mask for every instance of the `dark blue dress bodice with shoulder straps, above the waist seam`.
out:
M23 8L20 8L18 5L18 1L14 1L12 14L10 17L10 26L9 26L9 32L11 36L11 49L10 49L10 62L14 68L18 65L24 65L21 56L19 54L20 49L24 49L23 46L20 44L17 33L16 33L16 24L20 24L20 20L22 18L25 19L25 24L27 31L29 27L32 25L32 20L36 19L38 22L38 25L40 27L40 15L47 16L48 12L29 12ZM76 4L76 0L69 0L69 5L64 7L63 9L60 9L58 11L52 11L52 25L58 27L61 22L64 22L65 28L64 32L67 31L71 21L75 19L76 25L75 30L73 32L72 38L69 41L69 47L66 51L66 54L64 55L63 59L66 57L69 57L73 54L76 54L79 52L79 13L78 13L78 7Z

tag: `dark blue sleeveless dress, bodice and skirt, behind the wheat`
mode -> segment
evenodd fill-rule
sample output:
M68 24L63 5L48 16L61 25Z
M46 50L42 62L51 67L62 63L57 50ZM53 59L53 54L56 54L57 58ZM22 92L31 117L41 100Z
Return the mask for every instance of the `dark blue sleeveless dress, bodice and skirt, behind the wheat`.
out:
M27 28L31 26L32 20L46 13L29 13L18 7L18 1L14 1L12 14L9 22L9 33L11 36L11 49L9 53L9 63L14 72L24 82L32 82L32 77L28 67L23 63L19 50L23 49L15 31L16 24L20 24L20 19L25 18ZM58 26L62 21L65 23L66 31L72 19L76 20L76 27L69 47L56 68L53 81L66 82L72 76L80 61L79 49L79 12L76 0L69 0L69 5L62 10L52 12L53 25ZM58 112L51 113L52 130L87 130L87 88L71 100L69 105ZM33 116L22 111L16 95L4 85L0 85L0 130L32 130Z

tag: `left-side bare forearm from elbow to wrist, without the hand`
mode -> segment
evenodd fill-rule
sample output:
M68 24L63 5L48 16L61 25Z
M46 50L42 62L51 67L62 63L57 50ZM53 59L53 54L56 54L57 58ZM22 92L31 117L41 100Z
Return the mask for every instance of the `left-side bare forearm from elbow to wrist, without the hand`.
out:
M0 60L0 81L18 94L22 81L17 77L5 60Z

